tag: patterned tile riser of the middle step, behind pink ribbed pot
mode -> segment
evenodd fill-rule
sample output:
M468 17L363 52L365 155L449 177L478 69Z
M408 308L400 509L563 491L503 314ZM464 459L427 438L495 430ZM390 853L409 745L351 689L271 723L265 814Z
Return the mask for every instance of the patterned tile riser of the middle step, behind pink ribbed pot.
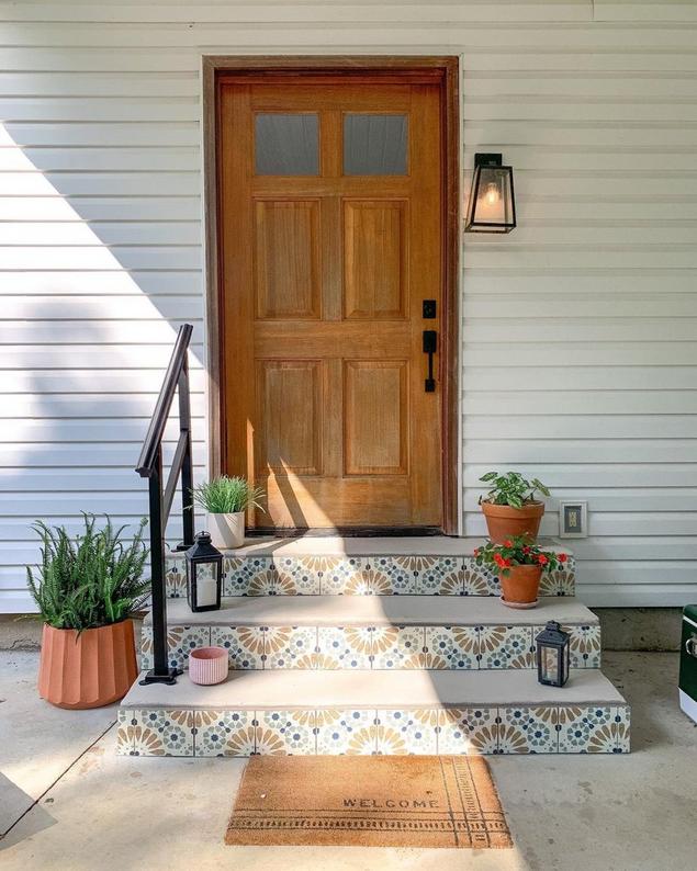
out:
M572 668L600 667L599 625L572 625ZM535 668L538 626L170 626L169 663L188 668L194 647L226 647L234 669ZM143 627L142 668L153 667Z

